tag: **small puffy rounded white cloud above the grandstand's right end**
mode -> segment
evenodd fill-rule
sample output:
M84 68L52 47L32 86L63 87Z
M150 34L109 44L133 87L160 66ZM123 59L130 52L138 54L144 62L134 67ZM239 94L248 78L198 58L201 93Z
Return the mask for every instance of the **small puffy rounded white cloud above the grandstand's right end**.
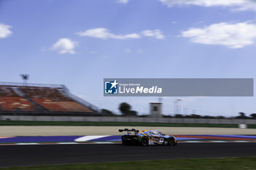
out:
M59 39L58 42L56 42L51 49L58 51L58 53L70 53L75 54L75 47L78 45L78 42L73 42L71 39Z

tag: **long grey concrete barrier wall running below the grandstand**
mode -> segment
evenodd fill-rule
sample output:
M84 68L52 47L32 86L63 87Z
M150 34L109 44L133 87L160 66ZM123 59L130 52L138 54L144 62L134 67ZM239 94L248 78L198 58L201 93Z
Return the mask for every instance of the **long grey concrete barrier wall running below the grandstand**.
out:
M0 115L0 120L28 121L88 121L88 122L143 122L143 123L219 123L256 124L256 120L244 119L193 119L193 118L154 118L154 117L83 117L83 116L18 116Z

